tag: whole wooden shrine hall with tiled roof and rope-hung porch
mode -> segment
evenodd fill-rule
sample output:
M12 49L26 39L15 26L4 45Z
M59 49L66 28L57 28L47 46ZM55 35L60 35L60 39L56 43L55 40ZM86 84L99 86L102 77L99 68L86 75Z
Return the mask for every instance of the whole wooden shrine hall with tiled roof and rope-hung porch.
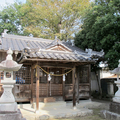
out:
M54 102L57 100L89 99L90 65L104 53L86 49L59 39L10 35L1 37L0 62L6 51L13 50L13 58L22 68L14 73L16 80L13 93L17 102ZM3 72L0 73L3 79ZM2 86L2 85L1 85ZM2 94L2 88L0 93Z

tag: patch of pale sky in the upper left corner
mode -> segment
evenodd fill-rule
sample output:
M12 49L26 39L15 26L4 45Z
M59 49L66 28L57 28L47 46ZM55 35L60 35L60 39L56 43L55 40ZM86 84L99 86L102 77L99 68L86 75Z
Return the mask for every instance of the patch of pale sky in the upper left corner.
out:
M26 0L0 0L0 10L7 5L13 4L15 1L25 3Z

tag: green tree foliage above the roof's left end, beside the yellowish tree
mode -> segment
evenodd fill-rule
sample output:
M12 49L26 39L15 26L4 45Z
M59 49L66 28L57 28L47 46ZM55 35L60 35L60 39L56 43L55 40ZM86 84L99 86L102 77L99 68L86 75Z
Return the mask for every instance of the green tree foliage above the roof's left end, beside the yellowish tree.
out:
M21 4L15 3L0 11L0 34L7 29L12 34L20 34L19 9Z

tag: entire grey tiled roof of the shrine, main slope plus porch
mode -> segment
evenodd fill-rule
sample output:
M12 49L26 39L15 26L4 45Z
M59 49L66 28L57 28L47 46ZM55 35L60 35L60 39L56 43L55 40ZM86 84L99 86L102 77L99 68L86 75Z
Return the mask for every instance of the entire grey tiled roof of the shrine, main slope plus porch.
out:
M11 48L13 51L25 52L23 55L29 58L40 59L55 59L55 60L69 60L69 61L92 61L93 55L96 57L102 57L103 52L83 51L82 49L72 46L67 42L60 40L49 40L43 38L26 37L19 35L10 35L4 33L2 39L2 45L0 45L0 51L8 50ZM51 47L61 45L68 51L50 50ZM29 52L28 52L29 51Z

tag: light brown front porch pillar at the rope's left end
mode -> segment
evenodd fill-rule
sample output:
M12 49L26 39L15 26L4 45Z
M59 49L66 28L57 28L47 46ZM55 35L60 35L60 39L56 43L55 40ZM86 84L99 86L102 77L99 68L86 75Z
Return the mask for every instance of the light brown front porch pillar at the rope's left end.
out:
M37 76L36 76L36 112L39 111L39 67L37 66L36 69Z

